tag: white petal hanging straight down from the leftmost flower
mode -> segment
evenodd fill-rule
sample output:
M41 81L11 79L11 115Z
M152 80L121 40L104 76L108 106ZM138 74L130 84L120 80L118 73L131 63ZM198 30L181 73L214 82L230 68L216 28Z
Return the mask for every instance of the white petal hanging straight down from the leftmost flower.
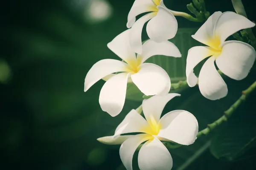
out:
M122 111L129 76L128 73L119 73L105 82L99 94L99 104L102 111L111 116L116 116Z

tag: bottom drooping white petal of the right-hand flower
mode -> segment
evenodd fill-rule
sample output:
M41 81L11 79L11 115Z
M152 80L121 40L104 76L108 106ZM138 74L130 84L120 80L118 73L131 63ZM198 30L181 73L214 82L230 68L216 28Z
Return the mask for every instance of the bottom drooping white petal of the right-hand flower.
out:
M214 56L207 59L198 77L198 86L201 94L210 100L217 100L227 96L227 85L218 74L214 60Z

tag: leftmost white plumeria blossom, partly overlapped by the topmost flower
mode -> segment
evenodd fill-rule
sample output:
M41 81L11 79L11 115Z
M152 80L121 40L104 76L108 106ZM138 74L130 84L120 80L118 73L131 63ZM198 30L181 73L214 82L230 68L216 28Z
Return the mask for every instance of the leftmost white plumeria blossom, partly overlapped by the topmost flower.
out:
M158 65L144 63L154 55L181 57L178 48L168 40L143 44L143 53L137 55L129 45L129 32L126 30L108 43L108 48L124 62L116 59L102 59L88 71L84 80L86 92L100 79L107 80L99 94L99 104L111 116L118 115L124 106L127 82L134 84L145 95L166 95L171 88L169 75ZM119 72L119 74L112 74ZM121 72L121 73L120 73Z

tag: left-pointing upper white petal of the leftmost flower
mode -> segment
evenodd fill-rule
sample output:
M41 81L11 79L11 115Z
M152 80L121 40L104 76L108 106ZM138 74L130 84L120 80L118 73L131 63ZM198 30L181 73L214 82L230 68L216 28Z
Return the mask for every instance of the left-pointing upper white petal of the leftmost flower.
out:
M102 59L96 62L84 79L84 92L108 74L125 71L128 65L116 59Z

